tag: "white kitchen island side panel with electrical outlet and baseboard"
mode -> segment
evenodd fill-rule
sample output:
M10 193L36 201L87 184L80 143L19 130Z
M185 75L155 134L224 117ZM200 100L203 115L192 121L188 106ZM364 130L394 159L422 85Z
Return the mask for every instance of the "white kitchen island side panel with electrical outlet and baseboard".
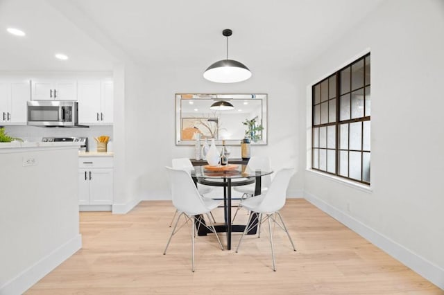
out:
M0 294L22 294L81 247L78 147L0 144L0 166Z

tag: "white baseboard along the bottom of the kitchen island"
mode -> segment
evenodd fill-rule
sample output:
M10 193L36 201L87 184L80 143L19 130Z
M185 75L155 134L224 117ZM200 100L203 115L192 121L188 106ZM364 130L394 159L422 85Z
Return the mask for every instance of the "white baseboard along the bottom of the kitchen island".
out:
M1 286L0 295L23 294L80 248L82 248L82 235L79 234Z

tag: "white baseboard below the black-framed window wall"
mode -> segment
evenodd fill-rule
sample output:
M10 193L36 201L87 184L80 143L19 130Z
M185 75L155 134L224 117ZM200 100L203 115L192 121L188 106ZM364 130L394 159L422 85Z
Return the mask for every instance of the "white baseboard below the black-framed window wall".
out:
M318 197L307 192L304 192L304 197L308 202L314 204L314 206L332 216L334 219L338 220L352 231L355 231L355 233L361 235L372 244L375 244L376 247L382 249L382 251L385 251L388 253L388 255L392 256L396 260L399 260L420 276L434 283L436 286L444 289L444 269L441 267L438 267L429 260L418 256L416 253L413 253L409 249L403 247L401 244L394 242L385 235L382 235L382 233L375 231L369 226L366 226L366 224L363 224L359 220L356 220L352 216L340 211L334 206L325 203L322 199L319 199Z

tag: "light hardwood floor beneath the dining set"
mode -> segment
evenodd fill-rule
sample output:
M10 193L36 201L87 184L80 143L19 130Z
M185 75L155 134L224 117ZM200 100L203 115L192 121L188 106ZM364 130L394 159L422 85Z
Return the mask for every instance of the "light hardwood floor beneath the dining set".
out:
M288 199L281 211L298 251L276 227L277 271L264 231L246 236L239 253L239 234L231 251L214 235L198 237L192 273L186 226L162 255L173 213L171 202L157 201L126 215L80 213L83 249L26 294L444 294L305 199Z

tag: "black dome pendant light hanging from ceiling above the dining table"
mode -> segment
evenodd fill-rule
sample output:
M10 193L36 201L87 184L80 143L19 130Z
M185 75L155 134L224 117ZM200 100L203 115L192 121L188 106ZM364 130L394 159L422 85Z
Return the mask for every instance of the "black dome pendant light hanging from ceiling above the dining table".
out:
M246 65L237 60L228 60L228 37L232 35L232 30L226 28L222 31L222 35L227 37L227 58L208 66L208 69L203 73L203 78L218 83L234 83L247 80L251 77L251 72Z

